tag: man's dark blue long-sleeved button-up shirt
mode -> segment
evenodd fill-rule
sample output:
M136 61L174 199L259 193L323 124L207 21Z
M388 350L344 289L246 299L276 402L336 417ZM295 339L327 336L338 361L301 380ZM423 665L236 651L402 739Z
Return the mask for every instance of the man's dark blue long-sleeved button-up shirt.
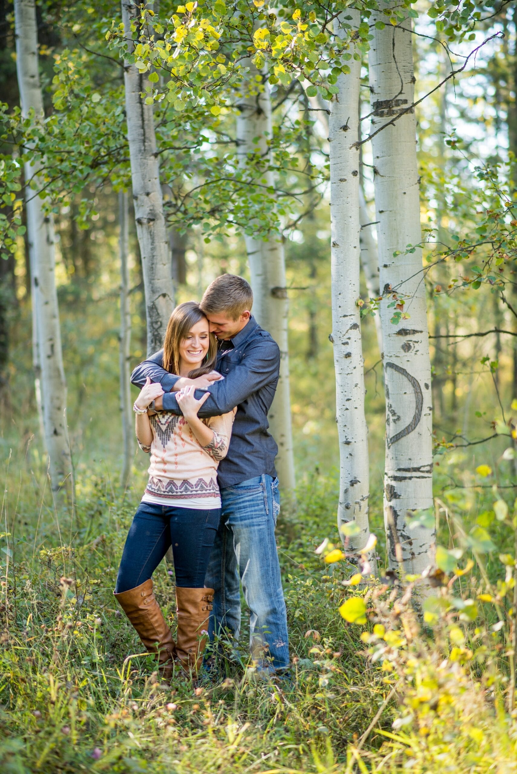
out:
M149 376L165 392L163 409L181 414L173 392L178 376L162 368L163 349L137 365L131 381L142 387ZM217 371L224 379L208 388L211 396L201 406L200 417L218 416L237 406L228 454L217 469L220 488L240 484L262 474L276 477L275 439L268 433L268 411L279 380L280 351L272 336L250 317L248 324L228 341L220 341ZM197 390L197 399L203 394Z

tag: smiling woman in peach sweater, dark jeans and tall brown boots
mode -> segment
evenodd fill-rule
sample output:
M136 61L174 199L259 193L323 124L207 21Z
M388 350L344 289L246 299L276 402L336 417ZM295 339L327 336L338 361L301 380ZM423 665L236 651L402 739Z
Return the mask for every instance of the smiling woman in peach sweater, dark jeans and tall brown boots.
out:
M217 354L214 334L197 303L180 304L170 316L163 343L169 372L196 378L211 372ZM228 451L235 411L200 420L209 393L196 399L193 387L176 393L183 416L149 409L163 395L150 378L135 400L136 437L150 453L149 481L135 514L118 570L115 597L160 670L173 663L197 671L202 659L214 590L204 576L221 515L217 465ZM152 591L152 574L169 547L176 570L177 642ZM158 646L156 647L156 643Z

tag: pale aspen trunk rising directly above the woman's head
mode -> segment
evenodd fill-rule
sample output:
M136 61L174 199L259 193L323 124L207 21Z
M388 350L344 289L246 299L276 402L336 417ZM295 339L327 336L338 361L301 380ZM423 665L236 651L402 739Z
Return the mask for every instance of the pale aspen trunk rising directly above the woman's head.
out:
M132 53L131 22L138 26L139 5L122 0L122 22ZM163 338L174 304L173 278L163 197L159 183L156 135L152 104L145 104L140 92L145 90L147 74L125 61L125 112L128 123L129 157L136 233L142 256L142 275L146 295L147 354L163 346Z

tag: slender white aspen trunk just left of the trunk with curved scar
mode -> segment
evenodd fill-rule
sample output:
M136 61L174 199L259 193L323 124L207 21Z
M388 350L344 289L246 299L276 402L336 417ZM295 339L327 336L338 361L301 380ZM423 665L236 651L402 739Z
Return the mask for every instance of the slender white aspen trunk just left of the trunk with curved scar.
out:
M347 9L351 26L359 12ZM341 19L338 33L341 33ZM346 35L346 33L342 33ZM351 547L368 542L368 428L365 420L364 359L359 298L360 231L358 102L361 60L350 60L351 72L337 78L339 92L329 103L330 241L332 276L332 342L336 370L336 414L340 449L340 495L337 526L355 522L360 532ZM343 537L343 533L341 532Z

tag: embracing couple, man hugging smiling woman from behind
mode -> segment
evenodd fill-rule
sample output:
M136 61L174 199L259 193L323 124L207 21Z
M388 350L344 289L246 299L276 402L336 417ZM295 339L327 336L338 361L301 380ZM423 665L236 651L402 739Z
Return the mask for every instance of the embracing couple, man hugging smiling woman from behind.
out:
M126 539L115 597L159 670L197 673L207 634L241 628L240 583L250 611L252 663L289 664L275 527L277 447L267 413L279 348L252 317L241 277L214 280L199 304L173 311L163 349L135 368L136 436L150 454L149 481ZM152 591L172 546L177 635Z

